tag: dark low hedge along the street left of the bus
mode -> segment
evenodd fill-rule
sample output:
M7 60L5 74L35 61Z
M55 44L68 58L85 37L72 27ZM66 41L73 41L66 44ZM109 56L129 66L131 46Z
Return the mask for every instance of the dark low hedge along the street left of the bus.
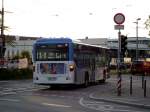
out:
M31 69L0 69L0 80L32 79Z

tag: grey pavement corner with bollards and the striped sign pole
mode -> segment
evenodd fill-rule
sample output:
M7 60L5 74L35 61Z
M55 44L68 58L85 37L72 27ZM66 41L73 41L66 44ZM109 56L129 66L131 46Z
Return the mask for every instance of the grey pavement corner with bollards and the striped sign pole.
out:
M121 96L117 91L117 76L109 78L101 90L90 95L90 98L104 102L116 103L121 105L135 106L150 109L150 76L144 77L146 80L146 96L142 88L142 77L132 76L132 94L130 94L130 77L131 75L122 75Z

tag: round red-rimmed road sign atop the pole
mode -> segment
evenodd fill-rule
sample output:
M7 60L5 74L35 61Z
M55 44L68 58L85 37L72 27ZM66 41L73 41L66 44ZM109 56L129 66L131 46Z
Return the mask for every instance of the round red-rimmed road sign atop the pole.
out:
M125 16L122 13L117 13L114 16L114 22L116 24L123 24L125 21Z

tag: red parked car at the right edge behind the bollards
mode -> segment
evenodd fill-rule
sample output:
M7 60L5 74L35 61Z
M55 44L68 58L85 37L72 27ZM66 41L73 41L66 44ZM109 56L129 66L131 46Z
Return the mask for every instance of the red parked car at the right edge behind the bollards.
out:
M131 73L139 75L150 75L150 62L148 61L133 61L131 64Z

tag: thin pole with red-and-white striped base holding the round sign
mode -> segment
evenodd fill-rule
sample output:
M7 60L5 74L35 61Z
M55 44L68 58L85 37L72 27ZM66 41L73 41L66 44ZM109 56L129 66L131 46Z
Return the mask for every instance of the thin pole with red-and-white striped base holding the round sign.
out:
M117 82L117 93L118 96L121 96L121 69L120 69L120 62L121 62L121 32L119 29L118 32L118 82Z

